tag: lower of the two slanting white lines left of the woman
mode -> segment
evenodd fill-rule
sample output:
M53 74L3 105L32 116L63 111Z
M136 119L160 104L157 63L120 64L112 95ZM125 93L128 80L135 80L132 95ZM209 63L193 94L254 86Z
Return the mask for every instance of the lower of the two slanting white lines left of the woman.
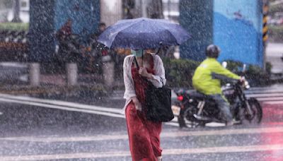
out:
M110 112L100 112L100 111L95 111L95 110L76 109L76 108L62 107L62 106L57 106L57 105L47 105L47 104L42 104L42 103L37 103L37 102L25 102L25 101L11 100L11 99L5 99L5 98L0 98L0 101L18 103L18 104L23 104L23 105L32 105L32 106L38 106L38 107L47 107L47 108L51 108L51 109L63 109L63 110L68 110L68 111L73 111L73 112L85 112L85 113L90 113L90 114L100 114L100 115L104 115L104 116L108 116L108 117L125 118L125 115L123 115L123 114L113 114L113 113L110 113Z

